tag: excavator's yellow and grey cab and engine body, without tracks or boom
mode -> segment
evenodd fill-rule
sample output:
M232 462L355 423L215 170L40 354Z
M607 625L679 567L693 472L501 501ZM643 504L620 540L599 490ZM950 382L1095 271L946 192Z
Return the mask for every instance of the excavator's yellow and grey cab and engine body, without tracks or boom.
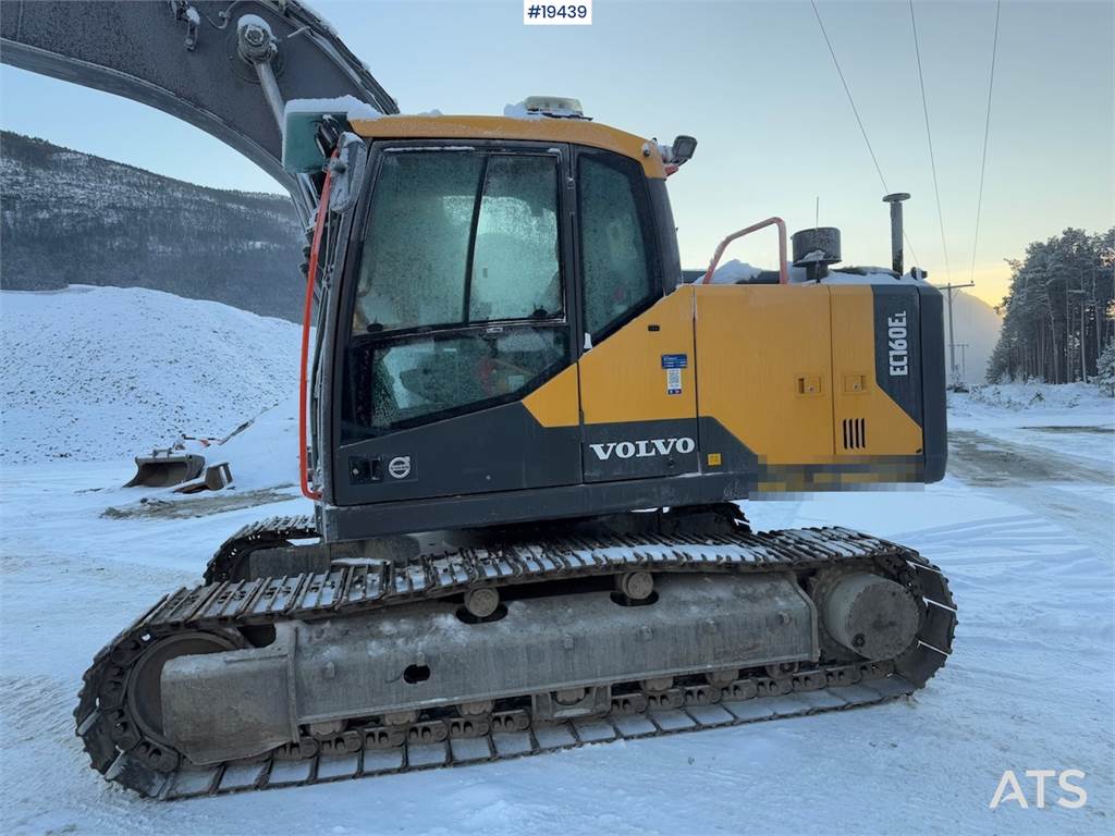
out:
M287 143L342 195L313 271L328 539L940 478L937 291L784 260L774 285L683 283L666 178L690 138L566 109L300 114Z

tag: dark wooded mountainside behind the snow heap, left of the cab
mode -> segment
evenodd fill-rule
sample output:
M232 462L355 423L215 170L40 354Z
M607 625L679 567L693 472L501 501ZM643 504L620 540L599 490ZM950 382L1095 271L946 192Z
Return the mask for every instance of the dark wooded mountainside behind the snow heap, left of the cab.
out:
M300 319L289 198L204 188L0 132L0 286L148 288Z

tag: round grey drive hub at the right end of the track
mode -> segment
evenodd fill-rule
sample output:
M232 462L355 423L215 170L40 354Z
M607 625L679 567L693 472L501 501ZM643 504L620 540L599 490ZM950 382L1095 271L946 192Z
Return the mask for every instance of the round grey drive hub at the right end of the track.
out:
M892 659L918 634L921 612L902 584L866 572L836 581L821 602L825 628L864 659Z

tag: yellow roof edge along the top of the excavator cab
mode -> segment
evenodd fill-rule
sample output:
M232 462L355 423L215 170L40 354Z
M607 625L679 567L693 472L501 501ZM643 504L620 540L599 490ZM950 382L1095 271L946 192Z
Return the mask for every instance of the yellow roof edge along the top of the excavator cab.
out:
M648 177L666 177L658 143L584 119L507 116L380 116L352 119L352 130L369 139L530 139L571 143L622 154L642 165Z

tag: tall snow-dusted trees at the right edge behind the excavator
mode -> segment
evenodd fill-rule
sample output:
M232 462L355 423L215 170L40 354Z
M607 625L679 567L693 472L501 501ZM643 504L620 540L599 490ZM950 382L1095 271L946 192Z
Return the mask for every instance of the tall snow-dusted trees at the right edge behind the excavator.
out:
M1002 331L988 381L1103 377L1115 351L1115 227L1095 234L1069 227L1008 263L1011 284L998 309Z

